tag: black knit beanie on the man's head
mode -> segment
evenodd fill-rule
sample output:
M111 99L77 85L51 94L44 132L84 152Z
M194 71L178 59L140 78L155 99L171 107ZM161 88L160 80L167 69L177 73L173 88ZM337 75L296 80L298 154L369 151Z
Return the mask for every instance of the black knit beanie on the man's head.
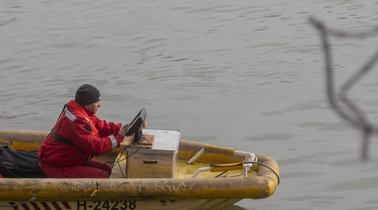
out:
M88 105L101 100L100 91L93 85L80 86L75 95L75 101L81 106Z

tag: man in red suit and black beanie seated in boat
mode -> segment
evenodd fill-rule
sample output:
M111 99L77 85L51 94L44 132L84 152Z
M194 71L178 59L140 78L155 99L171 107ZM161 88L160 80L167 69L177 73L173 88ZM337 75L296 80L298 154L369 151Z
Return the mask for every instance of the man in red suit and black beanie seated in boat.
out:
M115 124L96 117L100 91L82 85L75 100L65 104L51 133L39 149L40 166L48 178L109 178L110 165L90 160L123 142L129 124ZM144 124L147 127L147 123Z

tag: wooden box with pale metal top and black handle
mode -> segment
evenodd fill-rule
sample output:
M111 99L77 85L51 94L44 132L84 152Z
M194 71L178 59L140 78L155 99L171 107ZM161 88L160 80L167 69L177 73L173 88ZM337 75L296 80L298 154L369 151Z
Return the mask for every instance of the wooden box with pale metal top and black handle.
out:
M180 131L143 129L154 135L152 148L127 148L126 174L133 178L176 178Z

